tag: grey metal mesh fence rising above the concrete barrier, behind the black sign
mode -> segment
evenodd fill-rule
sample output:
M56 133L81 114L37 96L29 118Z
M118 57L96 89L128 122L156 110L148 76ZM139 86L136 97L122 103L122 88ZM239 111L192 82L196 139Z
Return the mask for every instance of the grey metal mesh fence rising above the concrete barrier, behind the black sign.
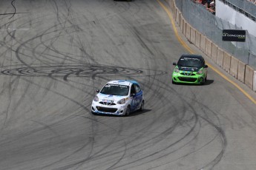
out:
M229 0L231 1L231 0ZM235 58L256 69L256 37L246 31L246 42L222 41L223 30L243 30L241 27L230 24L228 21L217 18L209 13L202 4L191 0L176 0L176 5L183 13L183 17L200 33L204 34L226 50ZM253 5L253 4L252 4Z

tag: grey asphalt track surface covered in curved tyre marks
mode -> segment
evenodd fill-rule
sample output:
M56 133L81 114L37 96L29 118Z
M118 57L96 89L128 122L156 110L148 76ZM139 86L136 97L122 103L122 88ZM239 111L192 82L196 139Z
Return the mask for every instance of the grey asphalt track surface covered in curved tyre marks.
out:
M171 84L188 51L158 1L0 9L1 170L256 169L255 103L211 68L203 86ZM143 112L91 115L96 89L114 79L142 84Z

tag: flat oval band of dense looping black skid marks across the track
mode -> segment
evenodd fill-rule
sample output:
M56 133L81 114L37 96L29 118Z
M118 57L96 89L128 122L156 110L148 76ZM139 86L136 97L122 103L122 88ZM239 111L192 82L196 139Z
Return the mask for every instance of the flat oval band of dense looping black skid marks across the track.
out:
M153 69L152 69L153 70ZM70 66L45 66L45 67L21 67L16 69L5 69L2 75L15 75L27 77L62 77L68 81L68 77L91 77L93 76L151 76L165 75L167 72L161 70L132 69L127 67L105 66L105 65L70 65Z

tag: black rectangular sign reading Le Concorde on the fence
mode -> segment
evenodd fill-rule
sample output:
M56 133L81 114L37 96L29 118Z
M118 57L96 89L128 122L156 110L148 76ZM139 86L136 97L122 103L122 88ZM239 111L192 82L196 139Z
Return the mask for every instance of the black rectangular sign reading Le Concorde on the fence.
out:
M223 41L246 41L246 30L223 30Z

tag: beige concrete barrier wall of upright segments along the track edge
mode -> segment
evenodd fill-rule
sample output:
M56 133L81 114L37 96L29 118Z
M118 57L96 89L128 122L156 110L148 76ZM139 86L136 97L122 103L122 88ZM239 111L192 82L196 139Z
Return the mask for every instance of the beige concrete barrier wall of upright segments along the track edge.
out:
M256 92L256 70L248 64L243 63L243 61L238 60L229 54L229 52L224 51L207 38L206 35L201 34L198 30L194 29L194 27L191 27L176 6L175 0L165 1L171 7L174 14L174 20L180 26L183 35L186 36L188 41L211 58L215 64Z

